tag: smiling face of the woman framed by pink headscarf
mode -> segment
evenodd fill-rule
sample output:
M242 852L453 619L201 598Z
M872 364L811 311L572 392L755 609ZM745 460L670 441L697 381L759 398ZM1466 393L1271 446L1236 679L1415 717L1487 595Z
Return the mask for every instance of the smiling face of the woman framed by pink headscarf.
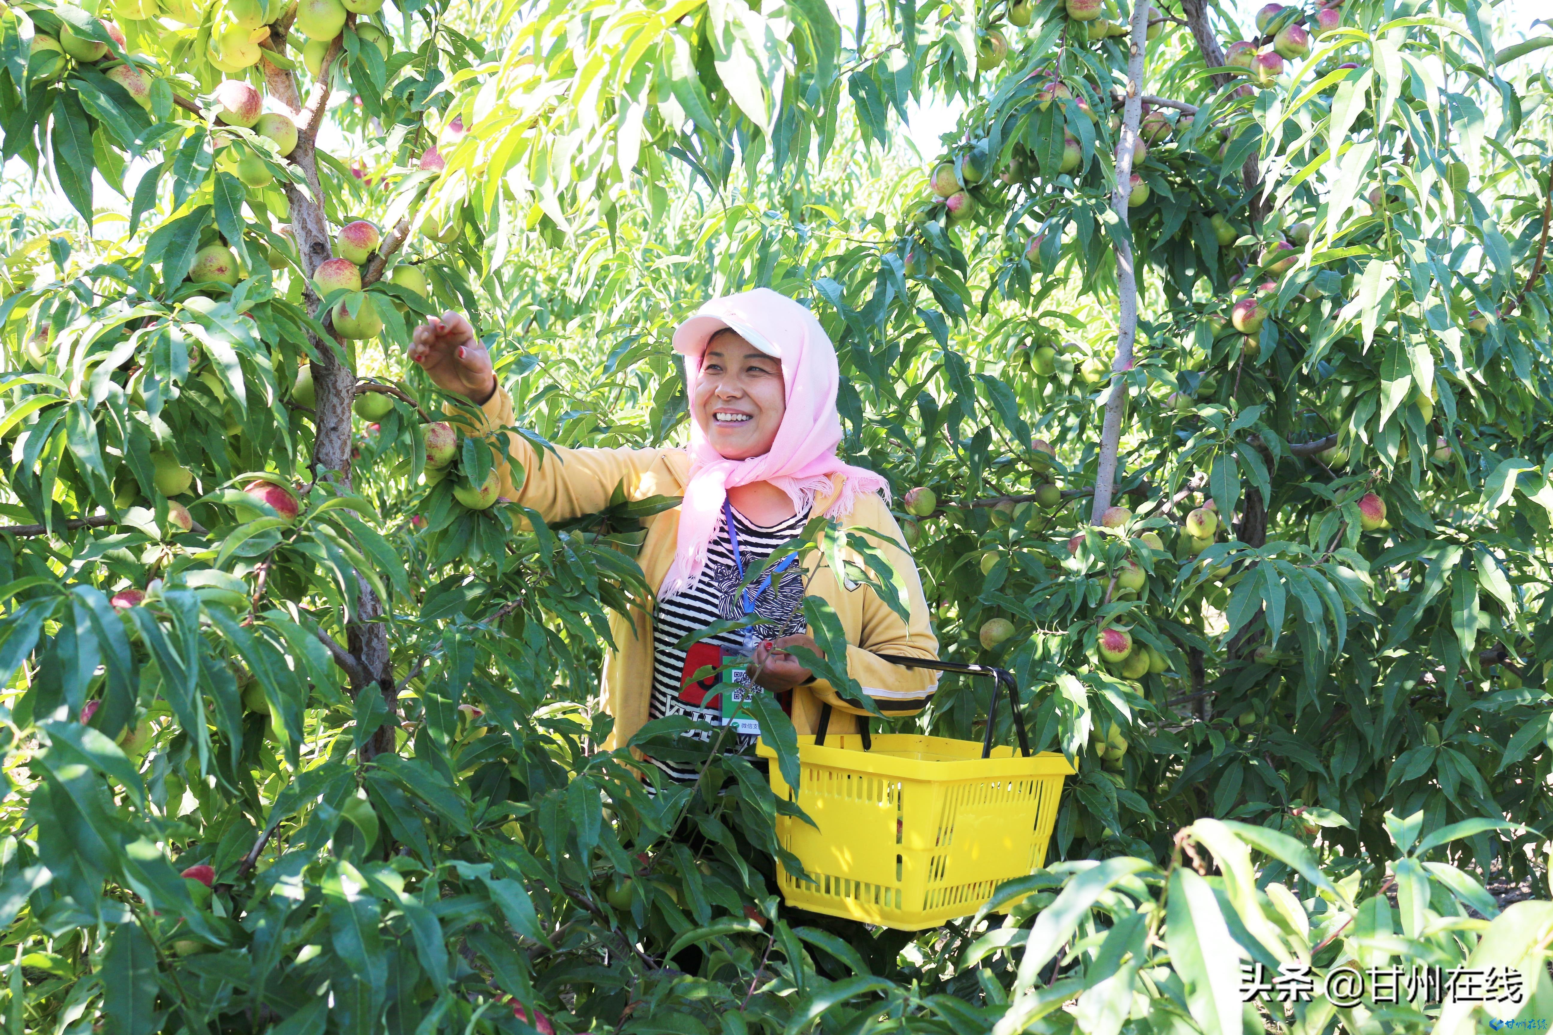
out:
M700 357L691 414L724 459L769 453L787 410L781 360L731 331L713 335Z

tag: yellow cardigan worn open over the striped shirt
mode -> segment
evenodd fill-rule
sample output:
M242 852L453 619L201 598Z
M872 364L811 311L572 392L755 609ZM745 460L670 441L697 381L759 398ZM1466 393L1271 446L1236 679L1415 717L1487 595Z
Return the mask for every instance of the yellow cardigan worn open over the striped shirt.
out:
M475 434L491 434L495 428L512 427L512 399L497 389L483 407L485 425L469 428ZM595 514L609 506L615 486L624 483L626 498L682 497L690 478L690 456L682 448L558 448L540 459L519 434L506 433L508 452L523 466L525 481L512 484L506 461L497 461L502 495L531 507L547 521L565 521ZM823 512L831 497L815 500ZM646 520L646 538L637 563L648 585L657 590L674 560L679 534L679 507ZM846 630L846 670L885 715L912 715L922 709L927 697L938 689L938 673L907 669L882 661L877 655L936 658L938 639L927 621L927 599L922 580L912 560L890 507L874 493L859 493L853 514L842 520L846 528L884 532L891 543L874 542L890 565L901 574L910 604L910 622L902 622L868 587L853 583L829 571L829 563L811 556L808 573L826 571L808 580L809 594L825 597ZM856 557L853 557L856 560ZM606 711L615 717L615 729L604 743L607 749L627 743L648 722L652 698L652 613L632 610L629 616L612 613L610 633L618 649L604 658L603 695ZM822 703L831 704L831 732L854 732L856 715L867 712L848 704L826 680L815 680L794 689L792 722L798 734L812 734L820 722Z

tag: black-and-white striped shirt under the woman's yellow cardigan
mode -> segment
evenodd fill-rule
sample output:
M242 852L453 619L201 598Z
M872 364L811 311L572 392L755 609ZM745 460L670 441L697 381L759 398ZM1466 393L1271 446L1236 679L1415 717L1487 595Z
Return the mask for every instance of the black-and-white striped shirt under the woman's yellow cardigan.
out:
M750 571L766 560L773 549L789 543L803 531L809 520L808 512L795 514L773 526L763 528L733 511L733 523L739 534L739 556L744 569ZM764 577L764 576L763 576ZM755 582L759 585L759 580ZM755 585L745 594L753 596ZM770 585L759 596L753 596L755 614L767 619L753 627L756 639L776 639L780 636L797 636L808 628L803 618L803 571L794 563L781 574L772 574ZM702 667L717 666L728 658L742 653L744 630L730 628L716 636L708 636L682 650L679 642L713 622L744 618L744 605L739 602L739 571L733 563L733 543L728 529L719 521L717 535L707 546L707 565L694 585L677 596L658 601L652 618L652 703L648 706L649 718L665 718L683 715L716 726L722 725L721 694L717 691L717 675L711 675L696 683L691 677ZM744 686L750 686L750 678L742 669L735 670L733 678ZM780 694L778 701L784 709L790 708L790 694ZM707 706L710 704L710 708ZM691 734L704 740L708 734ZM731 732L724 740L728 751L747 749L753 746L756 734ZM736 742L736 743L735 743ZM668 762L654 759L665 773L679 781L693 781L699 770L690 768L685 762Z

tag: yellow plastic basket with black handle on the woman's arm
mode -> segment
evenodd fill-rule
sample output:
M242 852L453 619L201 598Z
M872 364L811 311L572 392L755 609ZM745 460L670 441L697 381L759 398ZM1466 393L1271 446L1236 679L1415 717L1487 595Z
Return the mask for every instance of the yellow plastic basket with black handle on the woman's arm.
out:
M895 658L890 658L895 661ZM909 659L902 658L901 663ZM919 663L929 667L927 663ZM949 669L947 663L935 663ZM1008 680L986 666L954 666ZM997 691L992 692L995 708ZM1016 729L1023 746L1023 723ZM991 722L988 723L991 728ZM871 740L870 746L868 742ZM1028 748L1027 748L1028 749ZM975 912L1005 880L1045 864L1062 777L1058 753L1022 757L1013 748L915 734L798 737L797 794L772 759L772 790L818 824L776 816L776 838L811 880L778 863L789 905L901 931Z

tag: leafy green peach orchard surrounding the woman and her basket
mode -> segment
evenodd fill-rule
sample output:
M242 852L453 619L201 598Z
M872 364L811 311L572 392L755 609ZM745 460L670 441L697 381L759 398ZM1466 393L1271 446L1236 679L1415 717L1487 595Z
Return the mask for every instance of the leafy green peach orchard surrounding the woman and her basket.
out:
M1553 1016L1553 36L1233 14L0 3L5 1030ZM540 461L683 444L669 334L752 287L834 340L940 656L1075 770L938 926L797 914L804 796L721 739L604 748L679 501L547 524L405 360L463 312ZM1014 737L968 677L876 729ZM1328 995L1387 967L1516 993Z

